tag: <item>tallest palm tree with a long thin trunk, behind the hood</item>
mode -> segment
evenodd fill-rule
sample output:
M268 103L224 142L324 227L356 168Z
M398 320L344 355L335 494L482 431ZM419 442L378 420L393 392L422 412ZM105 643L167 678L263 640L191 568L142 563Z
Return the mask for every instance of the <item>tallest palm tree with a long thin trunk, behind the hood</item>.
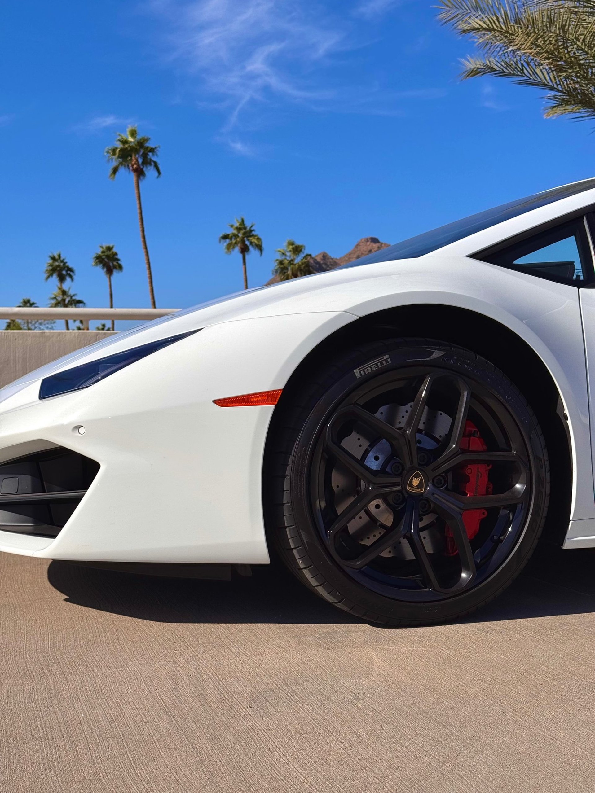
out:
M129 127L126 134L118 132L116 145L106 148L106 157L109 163L113 163L109 171L109 178L115 179L116 174L121 168L129 170L134 178L134 192L136 193L136 209L138 210L138 224L140 228L140 242L143 245L144 262L147 265L147 278L149 285L149 295L151 297L152 308L155 308L155 293L153 291L153 275L151 271L151 259L148 255L147 239L144 236L143 205L140 201L140 181L144 179L149 170L154 170L157 177L161 176L161 170L156 156L159 146L149 146L151 138L138 135L136 127Z

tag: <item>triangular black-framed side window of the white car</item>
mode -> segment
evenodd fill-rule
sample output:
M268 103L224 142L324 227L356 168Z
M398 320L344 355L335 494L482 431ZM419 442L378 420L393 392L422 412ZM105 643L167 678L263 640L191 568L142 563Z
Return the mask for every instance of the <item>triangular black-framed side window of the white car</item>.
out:
M552 281L578 285L585 282L590 272L585 220L581 217L496 251L488 251L486 255L477 254L476 258Z

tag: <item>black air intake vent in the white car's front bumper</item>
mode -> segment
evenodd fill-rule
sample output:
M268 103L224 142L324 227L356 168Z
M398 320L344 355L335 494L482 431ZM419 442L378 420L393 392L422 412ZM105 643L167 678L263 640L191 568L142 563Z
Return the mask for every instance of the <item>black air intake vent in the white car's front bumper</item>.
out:
M63 448L0 463L0 530L57 537L98 470Z

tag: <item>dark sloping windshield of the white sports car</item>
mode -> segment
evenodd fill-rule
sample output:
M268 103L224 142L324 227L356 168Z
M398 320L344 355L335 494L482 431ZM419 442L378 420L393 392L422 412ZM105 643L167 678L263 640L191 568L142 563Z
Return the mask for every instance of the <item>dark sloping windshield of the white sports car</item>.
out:
M536 193L517 201L510 201L509 204L486 209L485 212L470 215L463 220L455 220L454 223L435 228L432 232L425 232L417 237L405 239L402 243L383 248L382 251L363 256L362 259L355 259L355 262L349 262L343 266L356 267L361 264L374 264L374 262L392 262L393 259L417 259L418 256L432 253L445 245L458 242L459 239L464 239L476 232L482 232L485 228L510 220L511 217L523 215L526 212L531 212L532 209L539 209L540 206L583 193L593 187L595 187L595 179L585 179L584 182L574 182L572 185L555 187L554 190L546 190L544 193Z

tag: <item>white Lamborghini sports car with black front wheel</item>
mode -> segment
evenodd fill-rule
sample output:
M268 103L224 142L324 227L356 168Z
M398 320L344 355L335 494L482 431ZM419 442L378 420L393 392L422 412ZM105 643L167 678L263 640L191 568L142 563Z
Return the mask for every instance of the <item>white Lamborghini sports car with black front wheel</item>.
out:
M413 625L497 596L544 525L595 546L592 211L595 179L548 190L6 386L0 550L212 572L274 548Z

